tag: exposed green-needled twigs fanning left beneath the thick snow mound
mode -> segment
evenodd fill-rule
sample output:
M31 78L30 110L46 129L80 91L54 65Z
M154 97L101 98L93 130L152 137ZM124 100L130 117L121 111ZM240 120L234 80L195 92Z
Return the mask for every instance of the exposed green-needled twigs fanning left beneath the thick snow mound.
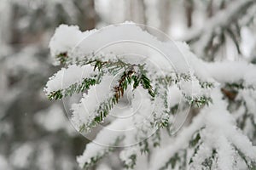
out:
M67 61L67 58L67 53L58 55L58 59L62 64ZM148 94L152 99L154 99L155 90L147 77L147 71L144 69L144 65L132 65L130 63L125 63L121 59L107 61L94 59L86 61L83 65L91 65L94 68L94 71L98 71L97 75L95 77L84 78L82 82L75 82L68 88L50 92L48 99L62 99L63 97L71 96L75 93L79 94L80 92L84 92L84 90L88 90L91 86L101 83L102 77L107 73L116 75L119 71L123 71L123 74L119 78L118 85L113 87L113 96L109 97L99 105L98 109L95 111L96 116L90 122L80 126L80 132L86 132L90 130L90 127L95 127L96 124L103 122L104 117L108 116L109 111L111 111L113 106L119 102L119 99L123 97L125 90L130 85L132 85L133 89L136 89L139 85L142 86L148 91Z

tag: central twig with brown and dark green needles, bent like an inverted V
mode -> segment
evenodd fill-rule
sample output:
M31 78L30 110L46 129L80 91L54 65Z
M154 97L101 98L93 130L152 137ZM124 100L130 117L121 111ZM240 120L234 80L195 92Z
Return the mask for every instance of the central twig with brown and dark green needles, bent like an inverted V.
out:
M106 61L100 61L95 60L93 62L90 62L90 64L93 63L93 66L95 69L98 69L98 71L102 71L104 67L107 68L124 68L124 65L128 67L125 71L123 71L121 77L119 78L118 85L113 87L113 96L108 98L106 101L102 102L98 109L95 111L96 116L91 122L88 122L86 124L83 124L81 127L79 127L79 131L83 133L84 131L87 132L90 130L91 127L95 127L97 124L102 123L104 121L104 118L108 116L108 113L113 109L113 106L118 104L119 99L121 99L125 93L125 90L128 88L129 85L133 82L133 89L136 89L139 85L141 85L144 89L148 90L148 94L154 99L154 89L152 88L151 82L146 76L146 71L143 68L143 65L130 65L126 64L121 60L118 60L117 62L106 62ZM137 67L138 70L135 68Z

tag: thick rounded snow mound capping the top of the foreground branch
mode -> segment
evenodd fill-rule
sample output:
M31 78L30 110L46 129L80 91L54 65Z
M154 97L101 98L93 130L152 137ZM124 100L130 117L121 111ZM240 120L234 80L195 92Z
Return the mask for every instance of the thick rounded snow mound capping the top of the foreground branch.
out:
M124 33L125 32L125 33ZM90 35L89 35L90 34ZM85 35L85 36L84 36ZM70 42L64 41L69 40ZM178 72L188 72L186 60L177 48L176 42L160 42L147 31L132 22L108 26L93 33L81 32L76 26L60 26L49 43L51 54L71 52L73 56L96 56L103 54L137 54L154 59L162 68L175 67ZM152 56L154 51L154 56ZM163 66L165 65L165 67ZM170 67L172 65L172 67Z

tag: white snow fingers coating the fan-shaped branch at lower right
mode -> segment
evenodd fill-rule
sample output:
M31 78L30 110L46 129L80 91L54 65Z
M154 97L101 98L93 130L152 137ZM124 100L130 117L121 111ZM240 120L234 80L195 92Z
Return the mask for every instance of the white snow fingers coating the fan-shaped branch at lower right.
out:
M188 146L188 141L193 133L201 127L201 141L203 142L193 158L192 169L201 168L201 162L212 156L212 150L217 149L218 168L234 169L236 151L234 146L241 151L247 159L255 160L256 147L245 135L236 128L234 118L227 111L227 103L221 99L218 89L212 93L213 104L204 108L200 115L194 118L194 122L182 130L169 146L163 146L154 156L152 169L158 169L165 165L170 157L178 150Z

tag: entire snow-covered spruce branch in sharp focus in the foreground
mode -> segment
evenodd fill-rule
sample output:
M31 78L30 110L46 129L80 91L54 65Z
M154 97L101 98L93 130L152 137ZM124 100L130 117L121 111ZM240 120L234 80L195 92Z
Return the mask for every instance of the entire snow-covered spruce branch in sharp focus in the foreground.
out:
M62 68L44 88L48 98L82 94L71 107L80 133L108 124L97 133L98 144L87 144L78 156L80 167L119 155L128 169L256 168L254 65L203 61L184 42L161 42L131 22L84 32L61 25L49 48ZM124 98L131 102L120 111ZM196 112L192 122L172 135L186 111ZM131 112L126 119L109 116ZM246 126L244 119L251 123Z

